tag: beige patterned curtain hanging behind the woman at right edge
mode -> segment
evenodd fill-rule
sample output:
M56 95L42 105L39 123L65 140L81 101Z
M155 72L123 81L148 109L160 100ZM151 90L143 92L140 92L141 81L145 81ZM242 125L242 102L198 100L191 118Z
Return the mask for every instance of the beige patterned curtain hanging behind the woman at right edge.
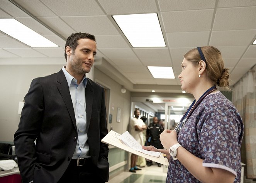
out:
M256 65L234 86L232 102L240 112L244 123L241 148L242 163L246 164L247 178L256 178Z

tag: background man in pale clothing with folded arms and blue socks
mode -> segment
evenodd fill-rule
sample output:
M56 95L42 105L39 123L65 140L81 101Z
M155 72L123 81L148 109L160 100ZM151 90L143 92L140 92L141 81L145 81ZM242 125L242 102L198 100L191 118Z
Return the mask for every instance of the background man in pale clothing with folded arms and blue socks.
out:
M131 135L139 142L139 144L143 144L143 130L146 130L147 127L144 122L139 119L141 115L141 111L136 108L134 111L134 118L130 121L130 133ZM129 171L136 173L136 170L141 170L136 166L138 156L136 154L131 155L131 168Z

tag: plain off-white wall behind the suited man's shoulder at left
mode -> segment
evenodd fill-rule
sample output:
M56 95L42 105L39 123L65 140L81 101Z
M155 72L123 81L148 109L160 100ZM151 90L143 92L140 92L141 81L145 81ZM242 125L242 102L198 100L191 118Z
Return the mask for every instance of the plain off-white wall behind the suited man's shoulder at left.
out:
M12 142L18 128L19 101L32 79L58 72L63 65L0 65L0 141Z

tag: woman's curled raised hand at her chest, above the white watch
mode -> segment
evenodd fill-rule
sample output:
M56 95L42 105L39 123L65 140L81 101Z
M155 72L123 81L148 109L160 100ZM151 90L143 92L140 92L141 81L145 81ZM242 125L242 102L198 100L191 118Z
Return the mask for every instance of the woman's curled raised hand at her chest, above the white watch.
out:
M178 143L177 132L175 130L165 129L160 134L160 141L164 148L169 149L174 144Z

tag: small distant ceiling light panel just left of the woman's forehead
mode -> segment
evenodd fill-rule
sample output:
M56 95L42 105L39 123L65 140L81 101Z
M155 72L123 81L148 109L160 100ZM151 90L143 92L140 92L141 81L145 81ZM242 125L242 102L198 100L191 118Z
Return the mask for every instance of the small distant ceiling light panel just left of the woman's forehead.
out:
M172 67L147 66L154 78L175 79Z

